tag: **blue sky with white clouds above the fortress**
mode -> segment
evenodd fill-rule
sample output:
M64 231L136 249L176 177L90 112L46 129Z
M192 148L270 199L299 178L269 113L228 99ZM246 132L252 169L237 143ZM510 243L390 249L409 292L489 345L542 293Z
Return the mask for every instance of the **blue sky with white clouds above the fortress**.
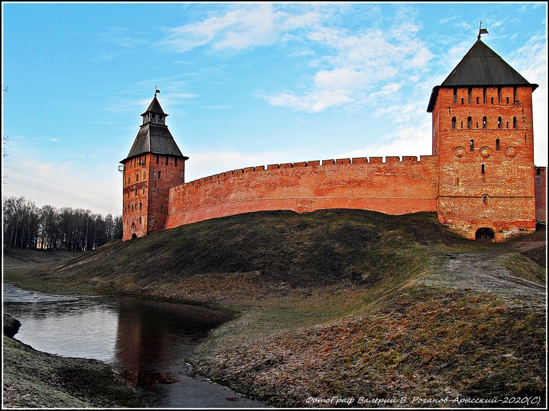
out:
M547 5L2 3L4 195L121 214L155 85L186 181L315 159L431 154L432 88L477 39L534 92L547 165Z

